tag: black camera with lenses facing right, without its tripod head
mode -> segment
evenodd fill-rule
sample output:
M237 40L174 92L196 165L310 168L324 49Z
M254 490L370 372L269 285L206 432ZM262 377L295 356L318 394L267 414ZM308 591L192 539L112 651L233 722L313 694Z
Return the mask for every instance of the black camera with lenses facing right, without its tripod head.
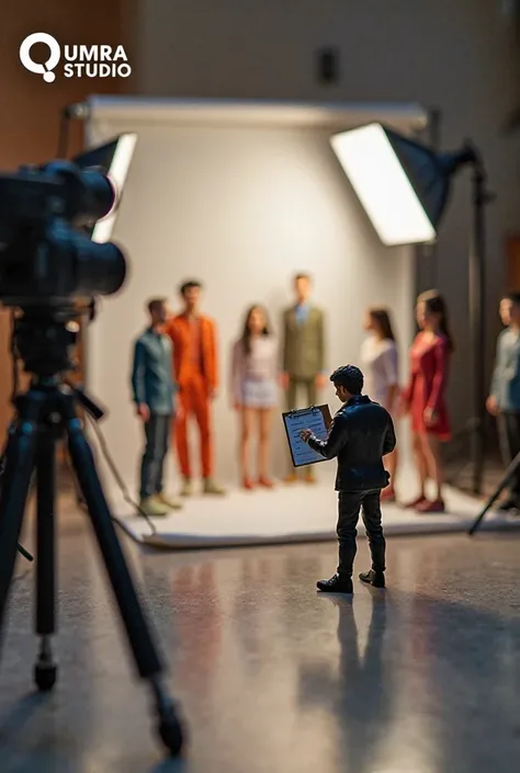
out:
M117 292L126 276L123 253L111 242L92 242L83 230L115 204L100 169L53 161L1 175L0 302L59 308Z

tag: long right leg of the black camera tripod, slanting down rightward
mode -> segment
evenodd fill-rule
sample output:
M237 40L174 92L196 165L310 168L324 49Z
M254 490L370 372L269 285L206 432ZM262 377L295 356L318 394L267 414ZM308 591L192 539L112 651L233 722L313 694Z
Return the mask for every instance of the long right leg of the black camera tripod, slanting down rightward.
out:
M135 586L115 533L106 499L95 470L92 451L79 419L69 409L67 434L70 458L92 522L103 561L109 573L128 643L142 679L149 679L159 714L159 734L172 754L182 748L182 728L172 701L161 682L162 666L140 607Z

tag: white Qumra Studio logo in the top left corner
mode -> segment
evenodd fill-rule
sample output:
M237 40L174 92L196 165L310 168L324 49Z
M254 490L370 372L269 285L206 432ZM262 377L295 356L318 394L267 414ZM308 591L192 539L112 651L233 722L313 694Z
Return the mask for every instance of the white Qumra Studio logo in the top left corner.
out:
M44 62L32 57L32 48L37 43L47 46L48 56ZM23 41L20 61L30 72L43 76L46 83L56 80L56 72L65 78L128 78L132 73L123 46L60 46L46 32L35 32Z

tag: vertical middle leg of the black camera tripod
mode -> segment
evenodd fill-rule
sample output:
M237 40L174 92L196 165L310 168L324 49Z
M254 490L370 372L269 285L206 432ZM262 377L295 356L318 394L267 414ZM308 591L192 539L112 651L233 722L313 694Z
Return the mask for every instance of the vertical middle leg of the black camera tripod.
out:
M42 691L54 687L57 668L53 660L50 637L56 629L55 604L55 503L56 441L52 430L38 436L36 448L37 475L37 566L36 566L36 634L41 636L39 652L34 667L34 681Z

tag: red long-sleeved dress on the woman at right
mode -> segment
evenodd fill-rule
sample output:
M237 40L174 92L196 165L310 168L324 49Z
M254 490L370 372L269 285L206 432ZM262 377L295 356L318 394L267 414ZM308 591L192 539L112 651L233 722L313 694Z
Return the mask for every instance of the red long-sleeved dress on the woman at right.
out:
M404 395L412 432L432 434L440 441L451 436L444 397L450 351L445 336L418 333L410 349L410 379Z

